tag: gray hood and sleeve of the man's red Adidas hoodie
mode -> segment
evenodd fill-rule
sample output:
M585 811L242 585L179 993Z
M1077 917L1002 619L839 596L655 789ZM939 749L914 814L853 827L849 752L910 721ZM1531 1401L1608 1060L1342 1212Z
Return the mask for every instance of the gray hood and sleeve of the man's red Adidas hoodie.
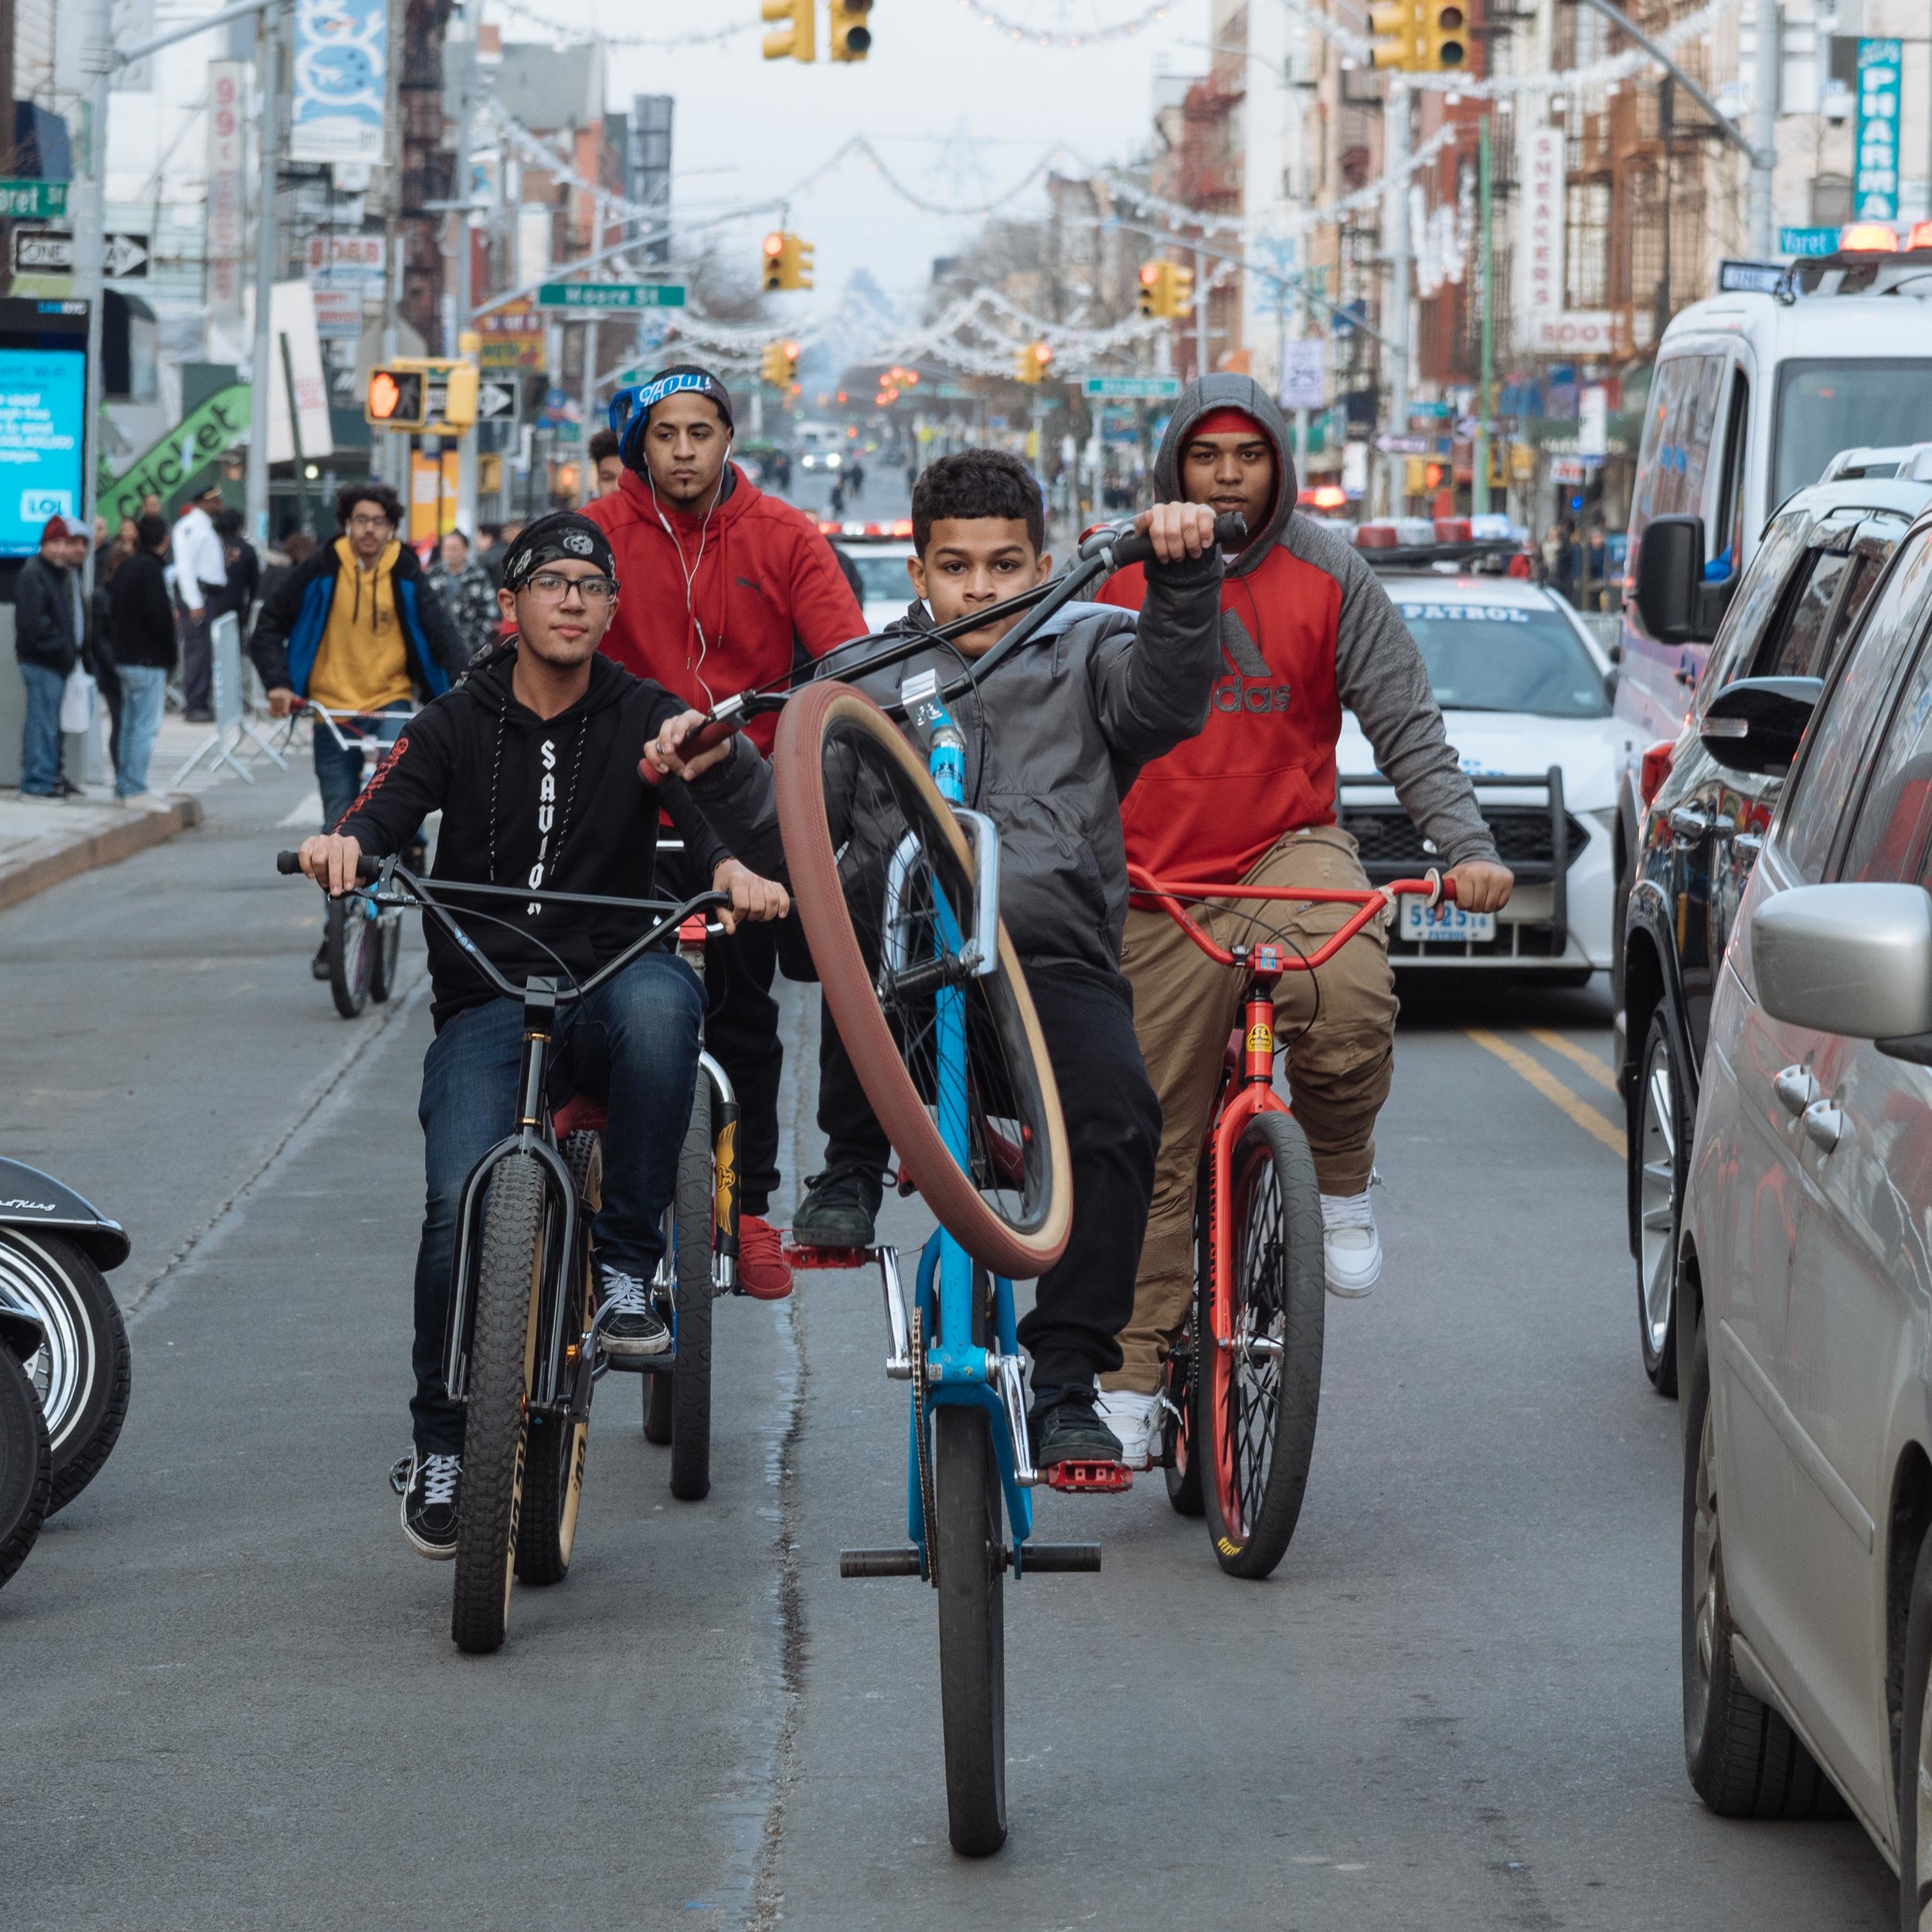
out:
M1289 427L1260 383L1246 375L1209 375L1180 392L1153 460L1155 500L1171 502L1184 495L1180 452L1194 425L1213 410L1242 410L1252 415L1275 446L1275 473L1281 477L1273 514L1229 562L1227 574L1250 576L1275 547L1281 547L1335 582L1341 591L1335 622L1335 682L1343 705L1360 719L1362 734L1376 753L1376 767L1395 786L1397 798L1422 835L1434 840L1445 867L1464 860L1493 862L1495 840L1476 806L1474 786L1443 730L1441 707L1430 690L1416 639L1408 636L1387 591L1360 553L1294 514L1298 479ZM1262 616L1265 626L1265 611ZM1225 643L1229 661L1238 670L1242 651L1252 657L1254 639L1248 639L1233 612L1221 622L1223 628L1235 624L1236 636ZM1291 827L1256 827L1260 850L1287 829Z

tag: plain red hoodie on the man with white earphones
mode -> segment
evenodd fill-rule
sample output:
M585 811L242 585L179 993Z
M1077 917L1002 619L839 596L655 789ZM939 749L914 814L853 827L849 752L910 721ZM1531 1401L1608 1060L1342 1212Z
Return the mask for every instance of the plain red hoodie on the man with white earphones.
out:
M583 506L611 537L622 585L605 655L699 709L784 676L800 649L823 657L866 636L811 518L767 497L736 464L732 477L709 518L663 504L632 469ZM777 728L777 717L761 717L746 732L769 753Z

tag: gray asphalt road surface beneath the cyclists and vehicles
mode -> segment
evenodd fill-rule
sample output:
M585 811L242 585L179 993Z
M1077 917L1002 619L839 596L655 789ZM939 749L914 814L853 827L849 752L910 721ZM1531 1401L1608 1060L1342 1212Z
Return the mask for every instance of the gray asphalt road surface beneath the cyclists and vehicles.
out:
M929 1594L837 1575L902 1528L862 1277L721 1306L705 1503L605 1381L570 1580L458 1656L384 1482L421 952L388 1014L334 1016L270 869L303 790L226 786L0 916L0 1146L135 1236L128 1432L0 1592L10 1932L1891 1922L1857 1826L1723 1824L1683 1776L1677 1408L1636 1364L1588 995L1410 1003L1387 1269L1329 1304L1271 1582L1223 1577L1157 1476L1037 1492L1105 1571L1009 1588L999 1859L945 1843Z

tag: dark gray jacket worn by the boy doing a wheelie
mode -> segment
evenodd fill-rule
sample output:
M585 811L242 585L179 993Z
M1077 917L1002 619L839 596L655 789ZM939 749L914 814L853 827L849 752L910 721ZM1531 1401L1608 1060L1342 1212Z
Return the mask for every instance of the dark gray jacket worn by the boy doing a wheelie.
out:
M1217 553L1150 566L1138 620L1113 605L1066 605L981 686L949 701L966 738L966 804L999 827L999 912L1022 960L1119 970L1126 925L1121 798L1142 765L1208 721L1221 665ZM916 603L887 636L920 630L931 630L931 618ZM815 676L837 678L877 649L877 641L842 645L819 659ZM947 684L966 667L968 659L935 641L858 688L889 705L922 670L937 670ZM692 784L692 796L748 866L775 869L782 854L769 779L750 779L750 761L740 742ZM873 846L891 850L893 842L883 833L867 838L858 825L848 864L869 864Z

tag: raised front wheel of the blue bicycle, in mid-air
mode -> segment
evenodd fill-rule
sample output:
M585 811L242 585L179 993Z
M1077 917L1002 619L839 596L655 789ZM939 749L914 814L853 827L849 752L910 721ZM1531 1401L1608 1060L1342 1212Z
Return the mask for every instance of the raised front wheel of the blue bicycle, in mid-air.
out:
M1072 1217L1066 1128L1005 927L993 972L962 964L974 925L966 835L898 726L846 684L811 684L786 703L775 763L798 916L879 1124L976 1262L1045 1273ZM960 1051L945 1045L952 1028L966 1117L941 1121L941 1059Z

